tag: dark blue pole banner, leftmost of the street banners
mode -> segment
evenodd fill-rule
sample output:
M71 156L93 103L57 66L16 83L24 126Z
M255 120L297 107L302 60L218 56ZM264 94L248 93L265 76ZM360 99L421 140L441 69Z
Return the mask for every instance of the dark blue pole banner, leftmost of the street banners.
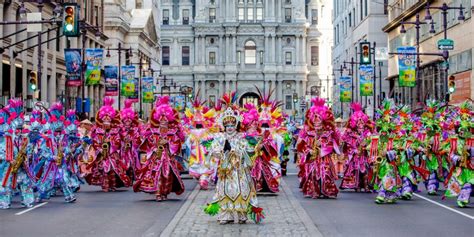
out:
M66 61L66 84L68 86L81 86L81 49L64 49Z

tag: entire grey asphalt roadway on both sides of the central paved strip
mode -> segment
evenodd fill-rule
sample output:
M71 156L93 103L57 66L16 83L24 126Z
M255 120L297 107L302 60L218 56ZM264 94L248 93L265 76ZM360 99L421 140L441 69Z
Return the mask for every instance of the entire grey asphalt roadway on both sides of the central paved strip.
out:
M285 182L324 236L467 237L474 234L474 208L457 208L453 199L427 196L424 190L411 201L387 205L375 204L374 193L353 191L341 191L337 199L310 199L300 192L295 173L294 164L290 164ZM152 195L134 193L131 189L103 193L100 187L92 186L83 186L74 204L64 203L59 196L34 209L23 209L16 197L12 209L0 210L0 236L115 237L160 233L196 186L196 181L191 179L185 179L184 183L184 194L171 195L168 201L160 203Z

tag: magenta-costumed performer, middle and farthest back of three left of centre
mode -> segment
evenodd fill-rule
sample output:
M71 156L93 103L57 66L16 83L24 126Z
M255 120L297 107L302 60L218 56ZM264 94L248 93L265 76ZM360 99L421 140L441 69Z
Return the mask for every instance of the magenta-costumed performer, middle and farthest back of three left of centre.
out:
M138 114L132 108L132 100L125 100L125 108L120 111L121 158L124 160L125 169L132 173L141 168L138 146L140 146L140 130L138 128Z

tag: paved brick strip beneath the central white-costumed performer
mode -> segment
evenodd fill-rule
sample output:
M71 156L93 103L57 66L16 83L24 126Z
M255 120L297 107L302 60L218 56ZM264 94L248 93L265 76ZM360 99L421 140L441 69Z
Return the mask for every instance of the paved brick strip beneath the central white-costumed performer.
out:
M202 210L213 193L196 186L161 236L322 236L283 180L278 195L258 197L266 216L259 225L251 221L245 225L220 225L215 216ZM154 233L152 227L145 236Z

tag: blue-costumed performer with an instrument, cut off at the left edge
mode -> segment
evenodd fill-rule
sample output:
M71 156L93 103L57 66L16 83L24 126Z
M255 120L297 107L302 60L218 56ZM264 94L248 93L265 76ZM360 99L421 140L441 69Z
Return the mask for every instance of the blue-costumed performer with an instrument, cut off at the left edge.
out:
M12 195L18 191L22 206L29 208L34 203L34 176L27 159L28 138L27 131L23 130L23 102L21 99L10 99L7 107L3 112L8 115L9 129L3 135L5 155L0 167L0 208L10 208Z

